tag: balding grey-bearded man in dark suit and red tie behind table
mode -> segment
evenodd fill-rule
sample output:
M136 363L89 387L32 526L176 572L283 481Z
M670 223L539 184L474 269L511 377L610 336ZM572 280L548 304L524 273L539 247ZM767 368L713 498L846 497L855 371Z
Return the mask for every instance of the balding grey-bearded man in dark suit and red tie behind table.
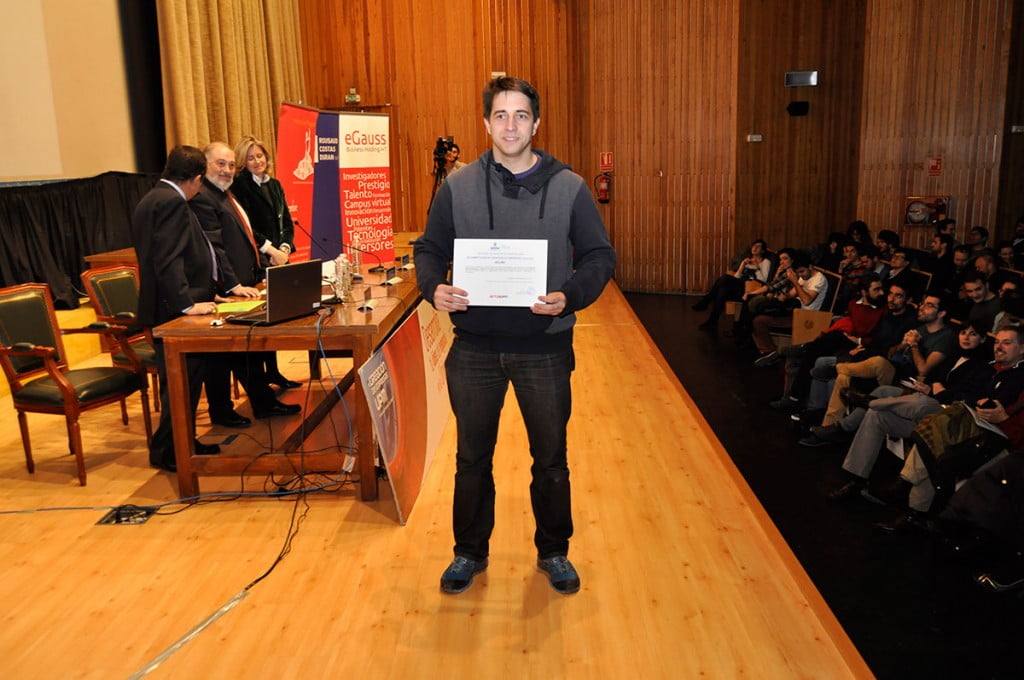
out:
M228 287L236 283L251 289L263 280L263 268L267 262L256 247L245 211L227 190L234 179L234 152L227 144L215 141L203 153L206 172L191 201L193 210L213 244L218 262L223 265L221 289L231 292ZM231 370L246 386L256 418L287 416L301 411L298 405L283 403L274 398L263 368L268 354L272 356L270 352L232 354L230 360L217 362L210 367L206 378L206 397L213 423L228 427L249 425L249 419L238 414L231 403ZM276 367L276 364L273 366ZM296 385L289 383L288 386Z

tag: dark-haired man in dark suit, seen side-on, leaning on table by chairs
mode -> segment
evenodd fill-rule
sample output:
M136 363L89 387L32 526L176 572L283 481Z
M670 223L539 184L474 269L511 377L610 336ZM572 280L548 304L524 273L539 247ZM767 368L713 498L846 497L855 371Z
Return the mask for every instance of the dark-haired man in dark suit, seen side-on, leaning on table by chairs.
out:
M217 263L213 247L188 207L206 169L203 152L195 146L176 146L157 185L142 197L132 216L132 241L138 256L138 318L147 327L159 326L182 314L212 314L216 292ZM156 343L160 366L160 398L166 405L150 444L150 464L175 471L171 409L167 393L167 371L163 342ZM199 403L206 362L186 359L188 396L193 415ZM219 448L196 442L199 454L216 454Z

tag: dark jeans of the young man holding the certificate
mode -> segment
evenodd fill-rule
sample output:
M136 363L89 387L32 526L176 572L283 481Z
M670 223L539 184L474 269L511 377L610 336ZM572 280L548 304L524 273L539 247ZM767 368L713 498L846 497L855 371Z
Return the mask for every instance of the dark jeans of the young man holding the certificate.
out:
M538 556L567 554L572 512L565 427L572 409L572 351L497 352L456 338L444 368L459 431L452 510L455 554L481 560L488 553L495 526L495 443L510 381L534 458L529 497Z

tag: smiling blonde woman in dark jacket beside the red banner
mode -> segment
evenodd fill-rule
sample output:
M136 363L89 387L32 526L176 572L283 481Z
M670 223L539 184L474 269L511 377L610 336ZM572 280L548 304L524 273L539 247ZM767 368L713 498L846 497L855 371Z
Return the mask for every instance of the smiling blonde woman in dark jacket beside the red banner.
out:
M256 247L270 264L286 264L295 250L295 227L285 189L269 174L272 163L267 146L255 137L242 137L234 158L239 171L231 193L249 215Z

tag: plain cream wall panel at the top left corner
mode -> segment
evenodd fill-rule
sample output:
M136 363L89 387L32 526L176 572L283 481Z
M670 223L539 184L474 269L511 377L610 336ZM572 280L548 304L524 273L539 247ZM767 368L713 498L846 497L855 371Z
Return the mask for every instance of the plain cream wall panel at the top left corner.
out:
M136 169L117 0L3 0L0 93L0 181Z

